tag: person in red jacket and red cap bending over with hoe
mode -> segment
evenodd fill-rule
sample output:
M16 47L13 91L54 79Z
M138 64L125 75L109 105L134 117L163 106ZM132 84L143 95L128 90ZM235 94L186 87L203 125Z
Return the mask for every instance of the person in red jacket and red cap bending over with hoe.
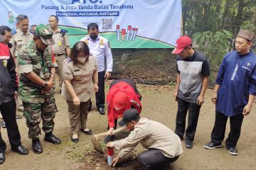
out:
M117 128L117 119L122 118L124 111L129 108L136 108L142 112L142 95L139 94L136 84L130 79L115 80L110 84L110 91L107 94L107 118L108 130L112 132ZM113 140L114 135L109 135L104 142Z

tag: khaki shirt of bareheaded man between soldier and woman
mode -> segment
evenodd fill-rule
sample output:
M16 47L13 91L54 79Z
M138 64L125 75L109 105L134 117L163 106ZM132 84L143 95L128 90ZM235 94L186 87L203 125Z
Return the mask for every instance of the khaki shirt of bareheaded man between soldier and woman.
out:
M65 54L66 47L70 46L70 42L68 41L68 34L65 35L60 34L60 28L53 33L53 39L55 44L52 45L53 52L55 55Z

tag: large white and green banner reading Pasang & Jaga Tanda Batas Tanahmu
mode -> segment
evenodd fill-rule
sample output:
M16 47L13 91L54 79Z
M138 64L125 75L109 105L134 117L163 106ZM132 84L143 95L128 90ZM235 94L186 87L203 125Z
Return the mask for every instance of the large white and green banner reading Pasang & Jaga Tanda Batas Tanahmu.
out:
M172 48L181 35L181 0L0 0L0 25L16 29L16 16L30 25L58 16L70 44L97 23L112 48Z

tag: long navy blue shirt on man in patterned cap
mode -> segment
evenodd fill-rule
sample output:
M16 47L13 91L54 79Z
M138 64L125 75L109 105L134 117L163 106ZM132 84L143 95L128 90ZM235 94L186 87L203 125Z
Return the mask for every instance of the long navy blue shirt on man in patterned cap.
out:
M215 83L220 85L216 111L226 116L242 114L249 94L256 95L255 53L229 52L220 64Z

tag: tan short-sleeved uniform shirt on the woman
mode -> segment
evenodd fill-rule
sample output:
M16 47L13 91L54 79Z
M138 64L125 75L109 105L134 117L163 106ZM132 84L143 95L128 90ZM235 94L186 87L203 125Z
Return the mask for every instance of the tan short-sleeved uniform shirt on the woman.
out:
M74 62L68 57L63 62L63 80L71 80L71 85L75 91L75 94L80 98L81 102L88 101L93 91L92 75L97 70L97 62L95 57L89 57L89 60L82 64L74 64ZM73 98L65 88L65 84L62 87L62 94L67 101L73 101Z

